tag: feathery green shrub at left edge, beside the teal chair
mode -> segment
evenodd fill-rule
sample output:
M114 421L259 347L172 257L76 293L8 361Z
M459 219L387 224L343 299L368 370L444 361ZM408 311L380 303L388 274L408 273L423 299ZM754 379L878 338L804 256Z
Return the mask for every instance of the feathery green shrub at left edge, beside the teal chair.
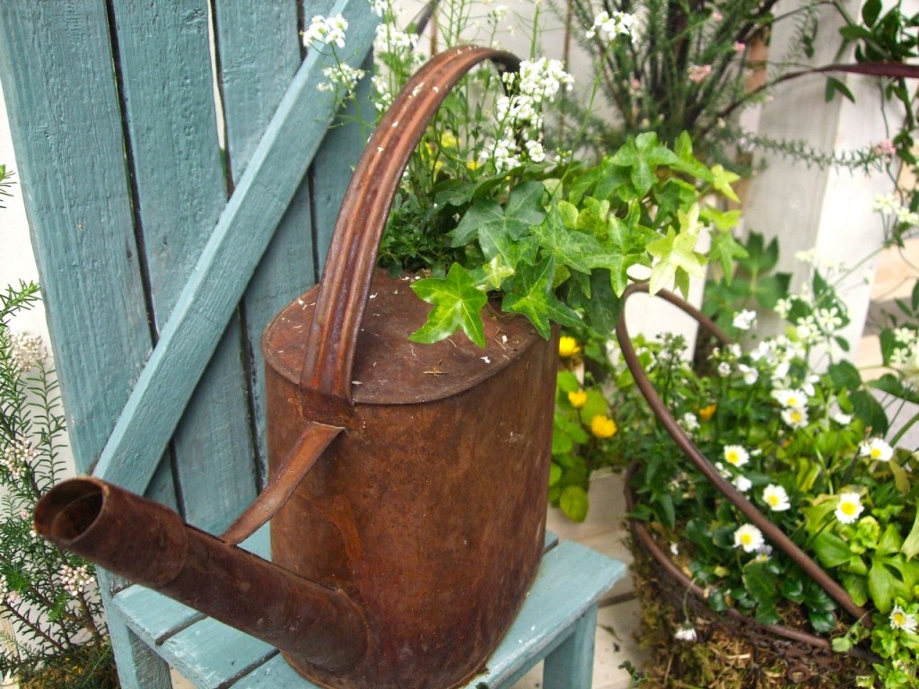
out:
M20 283L0 294L0 674L23 687L116 687L92 567L31 529L40 496L62 473L64 420L40 340L14 333L17 312L39 298Z

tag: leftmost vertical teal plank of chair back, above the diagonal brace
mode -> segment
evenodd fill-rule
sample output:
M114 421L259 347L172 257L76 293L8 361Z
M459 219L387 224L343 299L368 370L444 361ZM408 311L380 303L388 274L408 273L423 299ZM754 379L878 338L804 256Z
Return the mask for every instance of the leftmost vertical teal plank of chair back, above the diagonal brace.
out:
M80 471L151 348L107 23L103 3L0 3L0 78Z

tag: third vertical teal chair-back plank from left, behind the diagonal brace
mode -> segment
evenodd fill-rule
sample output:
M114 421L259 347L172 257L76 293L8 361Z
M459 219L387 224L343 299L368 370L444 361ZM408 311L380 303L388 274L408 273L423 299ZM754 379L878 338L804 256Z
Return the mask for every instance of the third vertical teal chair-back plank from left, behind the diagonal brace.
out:
M228 169L243 176L271 115L301 64L301 39L294 3L237 0L214 3ZM252 27L257 26L258 31ZM315 282L309 189L301 182L278 230L268 243L243 300L249 391L260 475L267 476L265 376L261 337L267 323L294 296Z

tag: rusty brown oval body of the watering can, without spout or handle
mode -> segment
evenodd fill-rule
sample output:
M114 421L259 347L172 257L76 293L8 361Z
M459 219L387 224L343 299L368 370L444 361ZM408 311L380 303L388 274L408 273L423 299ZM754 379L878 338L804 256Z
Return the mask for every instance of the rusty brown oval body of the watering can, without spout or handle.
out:
M272 559L344 591L368 653L330 686L448 687L481 671L544 548L557 348L494 312L486 349L414 344L425 307L375 276L353 370L353 415L271 521ZM271 469L303 432L297 377L314 294L265 335Z

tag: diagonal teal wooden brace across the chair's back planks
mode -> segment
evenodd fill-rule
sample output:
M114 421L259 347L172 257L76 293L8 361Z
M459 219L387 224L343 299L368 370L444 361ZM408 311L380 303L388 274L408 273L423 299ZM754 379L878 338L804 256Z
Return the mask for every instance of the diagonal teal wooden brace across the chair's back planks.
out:
M376 17L364 0L341 0L336 11L350 22L348 58L363 61ZM329 54L311 51L294 77L260 141L161 339L144 367L99 459L96 474L129 490L143 491L153 463L172 433L220 333L264 253L307 162L318 145L317 129L331 118L328 95L316 84Z

